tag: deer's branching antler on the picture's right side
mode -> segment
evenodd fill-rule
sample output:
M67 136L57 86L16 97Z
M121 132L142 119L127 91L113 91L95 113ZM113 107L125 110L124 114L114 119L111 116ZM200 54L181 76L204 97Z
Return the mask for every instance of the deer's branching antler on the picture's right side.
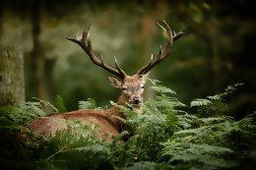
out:
M157 64L159 64L166 57L166 55L169 53L169 51L172 48L173 42L184 34L184 32L181 30L177 33L175 31L172 32L171 29L169 28L169 26L166 24L166 22L163 20L162 20L162 22L164 24L164 27L160 26L160 24L158 24L158 25L160 26L160 28L165 30L165 32L167 33L168 41L165 44L165 46L163 47L163 49L160 48L160 52L155 59L153 59L153 54L152 54L151 62L148 65L144 66L142 69L140 69L137 72L137 75L141 76L141 75L146 75L147 73L149 73L152 68L154 68Z

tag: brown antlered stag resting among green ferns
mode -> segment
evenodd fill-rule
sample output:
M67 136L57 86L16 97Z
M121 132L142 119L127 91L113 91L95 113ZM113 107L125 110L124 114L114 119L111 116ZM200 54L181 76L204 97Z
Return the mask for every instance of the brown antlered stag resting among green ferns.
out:
M107 79L110 85L121 89L121 94L116 101L116 105L112 105L110 108L104 110L92 109L54 113L46 117L37 118L27 125L27 128L35 134L52 138L56 135L56 132L66 131L68 129L68 125L65 122L66 120L80 121L85 126L95 124L99 128L99 131L96 132L96 136L107 141L113 140L121 132L126 131L126 126L120 119L118 119L118 117L123 119L126 117L118 106L120 105L134 109L138 114L142 113L144 85L146 84L149 72L166 58L167 54L172 49L173 42L184 34L182 30L177 33L172 31L165 21L162 21L162 23L163 26L159 23L158 25L166 33L167 42L163 48L160 47L158 55L154 57L152 54L149 64L142 67L133 76L127 75L120 68L115 57L115 67L111 67L103 63L102 56L100 58L96 56L92 47L92 41L89 38L89 30L91 26L85 28L82 37L81 35L76 35L75 38L66 37L68 40L78 44L96 66L117 77L114 78L108 76Z

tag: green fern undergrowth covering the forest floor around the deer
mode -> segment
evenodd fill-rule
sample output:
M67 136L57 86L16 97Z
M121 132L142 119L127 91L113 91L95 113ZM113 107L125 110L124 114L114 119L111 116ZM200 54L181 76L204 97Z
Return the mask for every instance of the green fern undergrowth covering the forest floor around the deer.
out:
M195 99L184 111L175 92L159 85L157 96L143 105L143 114L120 107L127 119L128 132L113 142L98 139L97 127L68 122L67 132L54 138L36 137L25 145L17 134L24 124L52 112L66 112L61 96L54 104L35 98L19 107L0 108L1 165L10 169L253 169L255 167L255 113L241 120L224 114L225 97L238 85L223 93ZM115 104L112 103L111 104ZM79 101L79 109L94 109L96 101ZM127 142L121 139L129 134Z

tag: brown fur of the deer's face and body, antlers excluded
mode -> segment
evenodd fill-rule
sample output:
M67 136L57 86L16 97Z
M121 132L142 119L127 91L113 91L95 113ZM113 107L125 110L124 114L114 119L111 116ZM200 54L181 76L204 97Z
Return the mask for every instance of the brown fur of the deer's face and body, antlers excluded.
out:
M126 106L127 103L132 102L131 98L134 95L139 95L140 103L135 104L134 108L137 109L138 112L141 112L141 102L143 100L143 90L141 89L141 86L143 84L144 83L138 76L125 78L120 84L121 86L115 86L119 88L122 88L122 86L127 87L127 89L123 90L119 96L116 104ZM95 124L99 129L99 131L96 131L96 136L102 139L111 140L118 136L119 133L126 130L124 123L117 117L125 118L124 114L120 112L117 106L112 106L105 110L77 110L38 118L32 121L27 128L32 130L35 134L51 138L55 136L57 131L67 130L68 126L65 122L66 120L80 121L82 125Z

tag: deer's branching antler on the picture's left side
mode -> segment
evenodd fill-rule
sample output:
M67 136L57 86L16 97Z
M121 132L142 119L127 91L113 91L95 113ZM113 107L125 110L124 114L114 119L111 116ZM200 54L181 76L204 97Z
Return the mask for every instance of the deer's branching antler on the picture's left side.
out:
M89 39L89 29L91 28L91 25L86 27L84 32L83 32L83 35L82 35L82 38L80 39L78 35L76 35L76 38L70 38L70 37L67 37L68 40L71 40L77 44L79 44L83 49L84 51L88 54L88 56L90 57L90 59L99 67L103 68L104 70L106 70L107 72L119 77L120 79L124 79L126 74L125 72L119 67L118 63L117 63L117 60L116 58L114 57L114 63L115 63L115 67L116 69L108 66L108 65L105 65L102 61L102 56L100 59L98 59L96 57L96 54L94 53L93 51L93 47L92 47L92 42L91 40Z

